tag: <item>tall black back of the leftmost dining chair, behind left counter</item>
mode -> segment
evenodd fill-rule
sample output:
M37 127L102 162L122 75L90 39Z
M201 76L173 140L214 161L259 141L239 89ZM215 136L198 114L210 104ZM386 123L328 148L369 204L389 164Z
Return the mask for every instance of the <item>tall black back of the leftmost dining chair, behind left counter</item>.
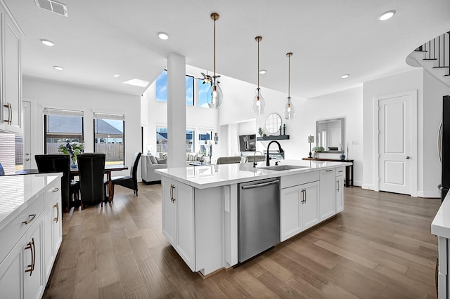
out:
M63 209L70 205L70 155L37 154L34 156L39 173L63 173L61 178L61 197Z

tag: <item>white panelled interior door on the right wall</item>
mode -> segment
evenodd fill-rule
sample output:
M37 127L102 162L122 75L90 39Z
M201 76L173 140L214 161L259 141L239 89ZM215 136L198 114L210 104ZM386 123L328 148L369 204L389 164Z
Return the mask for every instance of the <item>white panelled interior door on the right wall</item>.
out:
M411 194L411 95L384 98L378 108L380 191Z

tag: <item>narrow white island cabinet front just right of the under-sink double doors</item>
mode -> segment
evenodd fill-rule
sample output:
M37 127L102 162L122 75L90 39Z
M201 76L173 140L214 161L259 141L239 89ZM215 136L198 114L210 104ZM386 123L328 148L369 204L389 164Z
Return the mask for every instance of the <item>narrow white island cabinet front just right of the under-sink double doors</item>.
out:
M320 220L326 220L335 215L335 169L320 171Z

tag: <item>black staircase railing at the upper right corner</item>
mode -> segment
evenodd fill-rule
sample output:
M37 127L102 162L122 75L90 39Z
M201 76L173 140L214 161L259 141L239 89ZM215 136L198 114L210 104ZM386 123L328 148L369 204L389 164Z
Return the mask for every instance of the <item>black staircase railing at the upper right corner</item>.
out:
M423 60L435 60L434 68L446 68L450 76L450 32L441 34L416 48L416 52L424 52Z

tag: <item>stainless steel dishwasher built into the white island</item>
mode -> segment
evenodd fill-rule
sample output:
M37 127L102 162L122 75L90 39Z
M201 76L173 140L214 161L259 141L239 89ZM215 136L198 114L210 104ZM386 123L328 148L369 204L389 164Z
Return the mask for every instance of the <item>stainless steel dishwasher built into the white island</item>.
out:
M240 263L280 241L280 180L239 184L238 261Z

